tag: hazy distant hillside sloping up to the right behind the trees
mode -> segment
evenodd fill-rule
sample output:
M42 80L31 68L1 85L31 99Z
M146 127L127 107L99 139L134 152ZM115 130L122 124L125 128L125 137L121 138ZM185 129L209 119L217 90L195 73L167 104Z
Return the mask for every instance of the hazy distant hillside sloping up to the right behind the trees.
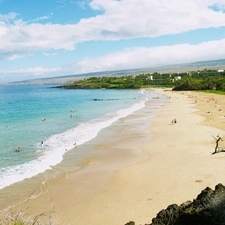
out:
M78 80L88 79L91 77L122 77L122 76L136 76L139 74L182 74L190 71L202 70L225 70L225 59L200 61L184 64L173 64L167 66L159 66L152 68L138 68L115 71L92 72L85 74L65 75L53 78L40 78L32 80L24 80L17 82L4 83L3 85L65 85Z

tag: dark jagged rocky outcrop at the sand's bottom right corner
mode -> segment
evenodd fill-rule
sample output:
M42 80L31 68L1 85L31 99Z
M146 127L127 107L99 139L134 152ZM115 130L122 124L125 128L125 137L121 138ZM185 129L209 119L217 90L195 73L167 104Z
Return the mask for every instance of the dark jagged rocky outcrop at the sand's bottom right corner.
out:
M225 225L225 186L207 187L192 202L170 205L146 225Z

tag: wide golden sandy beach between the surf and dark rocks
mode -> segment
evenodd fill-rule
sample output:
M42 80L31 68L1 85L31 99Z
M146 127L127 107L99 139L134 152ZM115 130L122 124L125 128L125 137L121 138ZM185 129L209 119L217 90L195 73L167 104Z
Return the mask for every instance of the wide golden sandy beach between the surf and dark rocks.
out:
M98 154L31 199L29 213L48 211L53 199L59 224L146 224L168 205L225 184L225 153L212 154L214 137L225 137L224 96L155 91L167 103L148 102L104 129L90 144Z

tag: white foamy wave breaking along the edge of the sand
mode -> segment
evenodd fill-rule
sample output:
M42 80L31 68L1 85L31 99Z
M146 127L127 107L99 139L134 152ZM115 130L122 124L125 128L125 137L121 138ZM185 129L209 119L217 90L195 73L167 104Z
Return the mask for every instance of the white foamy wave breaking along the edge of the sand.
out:
M143 90L142 94L144 94ZM95 138L102 129L143 108L146 100L147 98L129 108L107 113L100 118L89 120L60 134L50 136L44 141L41 149L37 149L36 153L39 155L37 159L0 171L0 189L52 169L63 160L63 155L67 151L74 148L75 143L82 145Z

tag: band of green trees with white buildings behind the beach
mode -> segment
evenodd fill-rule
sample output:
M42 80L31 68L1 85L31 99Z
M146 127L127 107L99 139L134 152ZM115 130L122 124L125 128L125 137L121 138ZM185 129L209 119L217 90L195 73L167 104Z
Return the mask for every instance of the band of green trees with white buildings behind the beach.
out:
M90 77L60 86L66 89L139 89L146 87L172 87L173 90L225 91L225 72L217 70L185 73L139 74L121 77Z

